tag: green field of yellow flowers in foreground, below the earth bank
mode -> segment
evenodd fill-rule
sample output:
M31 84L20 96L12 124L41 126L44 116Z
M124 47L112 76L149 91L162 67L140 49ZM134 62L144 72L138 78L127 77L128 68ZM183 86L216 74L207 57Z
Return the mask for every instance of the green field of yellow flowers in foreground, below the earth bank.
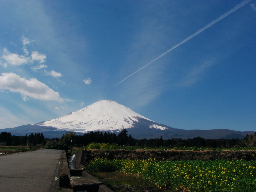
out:
M173 191L179 188L190 192L256 191L255 161L156 161L109 160L97 158L90 162L90 172L122 171L153 182Z

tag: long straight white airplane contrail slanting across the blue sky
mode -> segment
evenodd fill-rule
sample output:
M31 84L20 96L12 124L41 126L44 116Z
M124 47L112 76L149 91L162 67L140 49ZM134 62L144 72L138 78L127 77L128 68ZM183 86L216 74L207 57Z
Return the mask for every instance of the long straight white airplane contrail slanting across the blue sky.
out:
M178 47L179 45L185 43L186 41L188 41L189 39L191 39L192 37L198 35L199 33L201 33L202 31L204 31L205 29L211 27L213 24L217 23L219 20L222 20L224 17L227 17L230 13L236 11L237 9L239 9L240 7L244 6L245 4L249 3L252 0L245 0L242 3L236 5L233 9L229 10L228 12L224 13L223 15L221 15L219 18L213 20L211 23L209 23L208 25L206 25L205 27L199 29L198 31L196 31L196 33L194 33L193 35L189 36L188 38L184 39L183 41L181 41L180 43L178 43L177 45L175 45L174 47L172 47L171 49L167 50L166 52L164 52L163 54L161 54L160 56L158 56L156 59L150 61L147 65L143 66L142 68L140 68L139 70L135 71L134 73L132 73L131 75L129 75L128 77L126 77L125 79L129 78L130 76L134 75L135 73L137 73L138 71L140 71L141 69L147 67L149 64L153 63L155 60L158 60L160 57L164 56L166 53L172 51L173 49L175 49L176 47ZM119 83L123 82L125 79L123 79L122 81L120 81ZM118 84L119 84L118 83ZM115 84L118 85L118 84Z

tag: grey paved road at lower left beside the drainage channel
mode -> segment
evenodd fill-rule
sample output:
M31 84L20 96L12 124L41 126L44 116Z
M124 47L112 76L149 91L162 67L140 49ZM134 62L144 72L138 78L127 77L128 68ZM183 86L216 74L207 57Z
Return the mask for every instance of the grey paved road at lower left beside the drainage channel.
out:
M61 152L43 149L0 156L0 191L54 191Z

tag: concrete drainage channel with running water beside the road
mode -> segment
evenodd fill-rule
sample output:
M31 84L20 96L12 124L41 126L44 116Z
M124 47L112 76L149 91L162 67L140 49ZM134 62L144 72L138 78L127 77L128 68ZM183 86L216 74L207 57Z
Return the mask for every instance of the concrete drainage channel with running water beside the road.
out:
M74 192L113 192L88 172L79 169L84 157L85 150L66 151L69 174L59 177L59 187L72 188Z

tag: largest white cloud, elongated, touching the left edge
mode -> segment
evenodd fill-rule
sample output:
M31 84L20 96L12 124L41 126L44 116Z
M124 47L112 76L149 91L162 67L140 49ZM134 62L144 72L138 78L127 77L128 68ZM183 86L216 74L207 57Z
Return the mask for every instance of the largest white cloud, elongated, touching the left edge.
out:
M30 78L30 80L27 80L14 73L2 73L2 76L0 76L0 89L19 92L23 97L28 96L39 100L64 101L58 92L53 91L37 79ZM26 100L26 98L23 98L23 100Z

